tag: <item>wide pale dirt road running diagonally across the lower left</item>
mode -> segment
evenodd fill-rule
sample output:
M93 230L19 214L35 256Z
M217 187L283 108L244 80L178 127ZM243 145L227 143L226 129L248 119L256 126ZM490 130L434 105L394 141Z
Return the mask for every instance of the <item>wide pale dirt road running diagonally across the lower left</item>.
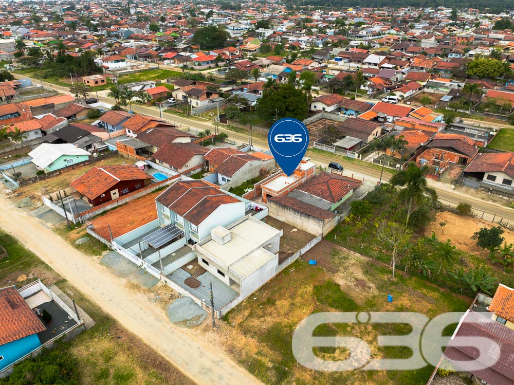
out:
M196 382L261 383L226 356L221 347L172 325L164 312L144 295L125 287L126 281L114 277L107 268L42 226L38 219L18 210L4 196L0 196L0 228Z

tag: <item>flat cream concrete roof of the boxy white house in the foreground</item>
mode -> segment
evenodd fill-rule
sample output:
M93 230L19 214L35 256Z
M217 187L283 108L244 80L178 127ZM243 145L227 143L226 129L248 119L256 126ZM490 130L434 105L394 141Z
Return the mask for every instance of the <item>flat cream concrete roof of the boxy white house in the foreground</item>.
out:
M231 232L232 239L224 245L211 239L198 247L211 254L215 262L229 271L246 277L274 257L273 253L262 246L265 246L281 230L251 216L245 217L242 222L228 230Z

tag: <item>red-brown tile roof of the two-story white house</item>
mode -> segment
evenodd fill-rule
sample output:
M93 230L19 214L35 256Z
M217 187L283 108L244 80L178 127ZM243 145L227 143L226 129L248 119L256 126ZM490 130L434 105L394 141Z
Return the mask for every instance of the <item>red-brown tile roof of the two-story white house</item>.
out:
M241 201L203 180L177 181L155 200L196 226L219 206Z

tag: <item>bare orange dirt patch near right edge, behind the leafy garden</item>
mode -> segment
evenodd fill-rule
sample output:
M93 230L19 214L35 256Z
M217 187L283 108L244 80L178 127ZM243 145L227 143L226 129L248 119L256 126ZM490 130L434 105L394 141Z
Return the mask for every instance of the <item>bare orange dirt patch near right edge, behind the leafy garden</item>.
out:
M443 233L441 233L439 222L446 222ZM482 249L476 246L476 242L471 240L471 236L482 227L490 228L492 226L493 224L491 222L483 221L482 219L461 216L444 211L436 214L435 221L431 222L425 229L425 235L430 236L432 232L435 232L435 235L439 239L450 239L452 244L457 246L458 249L472 254L482 254ZM514 243L514 231L505 229L503 237L506 243Z

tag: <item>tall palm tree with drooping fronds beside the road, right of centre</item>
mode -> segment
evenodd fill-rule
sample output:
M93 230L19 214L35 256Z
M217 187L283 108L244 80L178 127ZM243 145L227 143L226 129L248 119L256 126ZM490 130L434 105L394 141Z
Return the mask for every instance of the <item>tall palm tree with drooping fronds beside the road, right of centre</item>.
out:
M396 171L389 183L392 186L401 186L399 196L405 200L407 205L407 218L405 227L409 224L409 218L417 205L423 201L425 194L428 195L434 202L437 201L437 193L434 189L428 187L427 178L425 175L428 172L428 167L417 167L414 162L409 162L406 169Z

